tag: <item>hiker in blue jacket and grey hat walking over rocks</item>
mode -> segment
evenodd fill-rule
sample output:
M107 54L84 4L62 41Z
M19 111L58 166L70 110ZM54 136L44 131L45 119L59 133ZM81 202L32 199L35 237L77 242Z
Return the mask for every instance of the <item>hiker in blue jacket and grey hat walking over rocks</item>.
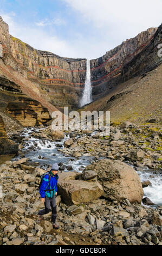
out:
M41 182L40 185L40 195L41 200L45 205L45 209L40 210L38 212L38 216L40 217L44 214L48 214L52 211L51 222L53 223L53 228L58 229L59 225L56 224L56 195L57 195L57 181L59 176L57 175L59 170L59 166L57 163L54 163L51 167L49 173L47 173ZM50 209L51 206L51 209Z

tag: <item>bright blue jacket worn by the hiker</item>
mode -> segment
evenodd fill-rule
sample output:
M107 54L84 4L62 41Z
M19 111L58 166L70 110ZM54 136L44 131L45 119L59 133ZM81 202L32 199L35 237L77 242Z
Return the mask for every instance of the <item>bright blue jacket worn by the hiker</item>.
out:
M57 174L54 175L54 177L50 176L50 181L49 181L50 187L49 187L49 184L48 184L49 176L48 176L48 174L46 176L44 176L41 187L40 187L41 198L44 198L45 196L51 198L51 197L53 197L53 193L55 195L55 192L57 192L58 179L59 179L59 176ZM53 190L54 188L55 188L54 191L46 191L45 192L45 190Z

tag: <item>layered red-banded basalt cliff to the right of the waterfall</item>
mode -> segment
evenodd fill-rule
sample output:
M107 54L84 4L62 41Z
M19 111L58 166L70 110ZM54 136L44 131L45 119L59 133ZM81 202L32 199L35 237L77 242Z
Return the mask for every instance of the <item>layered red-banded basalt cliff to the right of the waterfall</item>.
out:
M159 27L158 31L160 30L161 28ZM155 66L155 63L159 62L157 45L161 40L161 36L157 36L155 32L157 32L157 28L149 28L147 31L138 34L135 38L122 42L121 45L108 51L101 58L90 60L93 100L105 95L106 92L113 89L117 84L150 71ZM156 40L156 44L153 43L153 47L148 51L150 56L153 52L154 58L150 58L151 61L147 63L144 50L148 46L150 47L154 40ZM129 69L130 63L132 63L132 66L135 66L135 59L138 59L140 63L138 73L135 69ZM146 63L147 69L145 67ZM129 74L126 70L129 70Z

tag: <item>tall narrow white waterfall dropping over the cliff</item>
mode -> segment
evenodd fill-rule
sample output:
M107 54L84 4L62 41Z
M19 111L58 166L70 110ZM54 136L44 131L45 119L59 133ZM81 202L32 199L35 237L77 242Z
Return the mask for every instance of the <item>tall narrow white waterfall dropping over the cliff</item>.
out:
M85 106L90 102L92 102L92 86L90 81L90 60L87 60L85 89L80 100L80 107Z

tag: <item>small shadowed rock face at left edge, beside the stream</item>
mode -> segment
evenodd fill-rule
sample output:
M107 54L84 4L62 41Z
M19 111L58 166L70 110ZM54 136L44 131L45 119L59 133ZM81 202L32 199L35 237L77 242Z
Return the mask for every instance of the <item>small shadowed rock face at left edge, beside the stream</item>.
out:
M3 118L0 115L0 155L13 155L18 152L18 144L7 137Z

